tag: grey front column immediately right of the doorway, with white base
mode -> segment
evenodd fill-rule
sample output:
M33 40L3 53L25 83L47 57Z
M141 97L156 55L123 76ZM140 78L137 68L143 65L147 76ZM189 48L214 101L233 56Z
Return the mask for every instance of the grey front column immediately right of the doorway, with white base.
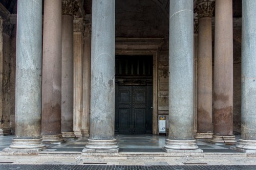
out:
M169 16L169 133L164 148L172 153L198 149L193 137L193 1L170 0Z

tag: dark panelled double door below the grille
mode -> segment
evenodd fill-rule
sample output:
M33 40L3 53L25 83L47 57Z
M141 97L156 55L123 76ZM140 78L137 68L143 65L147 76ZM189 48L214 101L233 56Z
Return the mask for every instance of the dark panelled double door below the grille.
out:
M115 132L152 133L152 84L119 85L115 95Z

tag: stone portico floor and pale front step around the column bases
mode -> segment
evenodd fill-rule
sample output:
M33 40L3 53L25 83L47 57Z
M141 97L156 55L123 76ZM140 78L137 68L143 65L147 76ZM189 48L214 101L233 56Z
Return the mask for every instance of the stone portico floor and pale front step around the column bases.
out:
M237 136L239 138L239 136ZM84 156L82 150L87 143L87 138L81 137L67 140L61 144L50 144L47 150L38 155L5 155L1 151L7 148L13 136L0 137L0 169L36 169L25 165L70 165L61 168L52 166L37 166L38 169L103 169L123 170L136 168L155 169L256 169L256 156L246 156L230 150L230 145L211 143L209 140L197 140L198 146L203 150L199 156L193 155L167 155L162 150L165 144L165 136L158 135L116 135L119 144L119 153L116 156ZM81 165L74 166L71 165ZM90 165L90 166L88 166ZM97 165L97 166L96 166ZM105 166L115 165L115 166ZM118 166L116 166L118 165ZM172 165L172 166L169 166ZM173 166L180 165L180 166ZM209 165L255 165L255 166L209 166ZM154 166L154 167L153 167ZM163 166L163 168L162 168ZM187 167L188 166L188 167ZM120 168L119 168L120 167ZM150 168L149 168L150 167ZM203 168L204 167L204 168ZM207 168L206 168L207 167ZM119 168L119 169L118 169Z

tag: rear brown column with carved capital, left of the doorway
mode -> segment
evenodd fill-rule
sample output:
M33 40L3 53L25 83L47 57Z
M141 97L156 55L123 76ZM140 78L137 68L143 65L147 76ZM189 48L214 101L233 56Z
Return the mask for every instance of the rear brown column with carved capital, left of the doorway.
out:
M61 59L61 133L75 137L73 131L74 61L73 20L77 1L62 0L62 59Z

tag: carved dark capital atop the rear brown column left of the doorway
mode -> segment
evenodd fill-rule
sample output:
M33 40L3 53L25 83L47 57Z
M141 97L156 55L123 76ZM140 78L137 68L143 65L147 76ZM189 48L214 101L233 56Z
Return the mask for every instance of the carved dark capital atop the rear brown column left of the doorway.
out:
M73 0L62 0L62 15L71 15L79 10L79 5L77 1Z

